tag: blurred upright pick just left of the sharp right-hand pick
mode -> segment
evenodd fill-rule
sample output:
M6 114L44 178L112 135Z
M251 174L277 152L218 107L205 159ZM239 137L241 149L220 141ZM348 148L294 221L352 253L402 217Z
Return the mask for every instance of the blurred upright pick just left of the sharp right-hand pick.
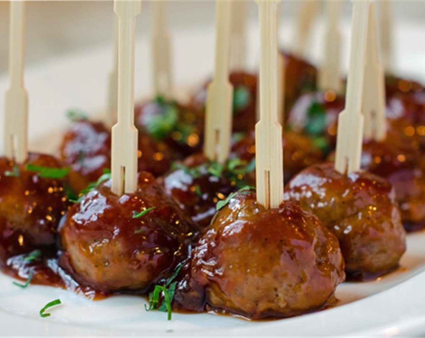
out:
M324 59L319 69L318 87L321 91L332 90L339 93L341 89L340 55L341 34L339 17L340 1L326 1L326 35Z

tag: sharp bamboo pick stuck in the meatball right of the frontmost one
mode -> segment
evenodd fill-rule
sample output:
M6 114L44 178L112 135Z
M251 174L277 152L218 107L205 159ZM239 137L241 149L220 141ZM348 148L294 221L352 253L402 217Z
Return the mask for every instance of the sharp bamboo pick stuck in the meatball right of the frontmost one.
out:
M363 139L362 94L370 0L353 0L350 59L345 109L338 116L335 169L340 173L360 170Z

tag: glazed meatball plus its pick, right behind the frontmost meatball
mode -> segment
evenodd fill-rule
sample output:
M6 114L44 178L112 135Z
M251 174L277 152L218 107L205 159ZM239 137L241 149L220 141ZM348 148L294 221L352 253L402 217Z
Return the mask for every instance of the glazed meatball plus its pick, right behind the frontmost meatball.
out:
M346 272L360 278L394 269L405 251L405 231L391 185L360 171L369 4L353 1L346 108L338 119L334 168L330 163L313 165L295 176L285 191L286 198L299 200L337 236Z

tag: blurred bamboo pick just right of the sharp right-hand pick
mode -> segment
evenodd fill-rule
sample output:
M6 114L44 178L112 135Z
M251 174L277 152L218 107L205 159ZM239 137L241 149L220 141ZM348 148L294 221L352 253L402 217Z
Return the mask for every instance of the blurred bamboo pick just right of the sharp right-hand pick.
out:
M368 37L366 44L365 78L363 85L363 115L366 139L383 141L386 136L385 75L378 56L375 4L369 8Z

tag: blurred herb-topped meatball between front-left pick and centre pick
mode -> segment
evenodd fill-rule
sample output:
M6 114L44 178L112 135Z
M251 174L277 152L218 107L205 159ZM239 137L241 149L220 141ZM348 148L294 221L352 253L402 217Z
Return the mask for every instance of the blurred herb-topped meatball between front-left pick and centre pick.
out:
M170 147L173 159L201 151L204 117L191 107L157 97L136 107L135 124L139 132Z

